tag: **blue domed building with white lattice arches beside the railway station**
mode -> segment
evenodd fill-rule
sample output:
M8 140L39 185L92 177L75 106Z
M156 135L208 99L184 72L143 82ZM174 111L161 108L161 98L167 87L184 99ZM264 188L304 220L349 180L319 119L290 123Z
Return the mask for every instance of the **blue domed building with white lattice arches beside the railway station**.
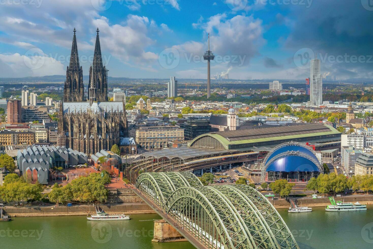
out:
M276 146L264 158L261 182L286 179L289 182L306 182L323 173L315 152L304 143L287 142Z

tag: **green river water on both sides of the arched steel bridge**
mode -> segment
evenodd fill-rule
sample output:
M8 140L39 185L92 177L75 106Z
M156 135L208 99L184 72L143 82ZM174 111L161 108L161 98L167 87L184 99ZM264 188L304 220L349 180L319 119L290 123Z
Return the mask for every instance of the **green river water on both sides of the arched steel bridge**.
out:
M373 206L361 212L289 214L279 209L300 248L373 248ZM85 216L15 217L0 222L0 248L7 249L192 249L189 242L155 243L156 214L133 214L129 221L88 221Z

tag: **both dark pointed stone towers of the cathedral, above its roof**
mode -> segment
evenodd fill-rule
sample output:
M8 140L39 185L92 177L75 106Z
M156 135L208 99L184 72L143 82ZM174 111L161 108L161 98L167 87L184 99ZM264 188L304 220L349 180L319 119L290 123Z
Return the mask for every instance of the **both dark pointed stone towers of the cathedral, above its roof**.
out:
M63 101L82 102L84 97L83 69L79 65L78 45L76 43L76 29L73 30L73 40L70 55L70 64L66 69L66 81L64 86ZM93 57L90 67L90 78L88 82L88 98L93 101L107 101L107 70L102 63L100 37L97 36Z

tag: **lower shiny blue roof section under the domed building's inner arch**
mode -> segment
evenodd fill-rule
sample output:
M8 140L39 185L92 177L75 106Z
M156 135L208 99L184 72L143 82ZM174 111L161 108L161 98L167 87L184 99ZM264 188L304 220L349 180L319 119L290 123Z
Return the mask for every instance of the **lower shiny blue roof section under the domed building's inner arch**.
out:
M272 162L266 169L266 171L282 171L282 172L311 172L317 171L320 172L320 169L317 167L314 162L310 159L304 158L302 156L285 156L283 158L277 159L275 162Z

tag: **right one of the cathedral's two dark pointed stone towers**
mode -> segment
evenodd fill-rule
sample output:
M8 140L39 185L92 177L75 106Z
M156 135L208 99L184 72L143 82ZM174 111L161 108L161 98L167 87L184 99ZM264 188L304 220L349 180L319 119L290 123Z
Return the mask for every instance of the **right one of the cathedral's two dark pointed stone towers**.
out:
M107 71L102 64L100 37L97 28L96 44L94 48L93 63L90 67L90 79L88 83L88 97L93 101L107 101Z

